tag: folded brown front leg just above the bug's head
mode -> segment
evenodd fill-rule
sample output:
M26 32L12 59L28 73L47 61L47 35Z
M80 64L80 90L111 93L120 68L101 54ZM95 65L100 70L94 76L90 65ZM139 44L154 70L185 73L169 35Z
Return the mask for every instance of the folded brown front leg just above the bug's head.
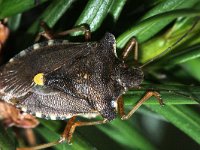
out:
M125 60L130 52L134 52L134 61L138 62L138 42L135 38L131 38L123 49L122 59Z

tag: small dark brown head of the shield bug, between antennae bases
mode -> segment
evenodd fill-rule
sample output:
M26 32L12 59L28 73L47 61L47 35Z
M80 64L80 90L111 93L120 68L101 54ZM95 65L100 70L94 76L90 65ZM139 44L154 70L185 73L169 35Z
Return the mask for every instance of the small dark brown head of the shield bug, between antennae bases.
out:
M141 68L121 67L117 81L125 89L138 87L144 79L144 74Z

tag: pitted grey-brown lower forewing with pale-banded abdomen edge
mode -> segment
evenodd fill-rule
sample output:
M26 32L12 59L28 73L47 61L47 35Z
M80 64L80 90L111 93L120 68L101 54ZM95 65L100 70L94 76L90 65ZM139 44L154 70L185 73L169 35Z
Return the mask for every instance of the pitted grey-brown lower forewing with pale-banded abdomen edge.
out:
M79 99L62 92L34 92L17 104L24 112L40 118L58 120L76 115L96 113L84 99Z

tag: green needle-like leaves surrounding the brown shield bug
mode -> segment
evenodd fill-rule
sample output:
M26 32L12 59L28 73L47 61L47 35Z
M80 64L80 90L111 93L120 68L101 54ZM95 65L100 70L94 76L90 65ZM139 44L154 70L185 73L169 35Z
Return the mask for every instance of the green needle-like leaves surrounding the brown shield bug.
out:
M119 53L131 37L136 37L140 43L140 62L145 63L179 40L191 29L199 15L199 0L89 0L87 3L74 0L0 0L0 19L8 18L11 35L14 37L6 44L7 49L11 47L15 50L8 50L8 55L34 43L34 37L41 30L39 22L43 20L56 31L86 23L95 35L94 40L100 39L102 33L112 31L117 37ZM142 89L130 90L124 96L128 111L142 97L145 89L153 88L161 93L165 107L160 107L155 98L151 98L145 103L146 107L140 108L139 113L134 114L130 120L117 119L107 125L78 128L72 145L63 143L54 148L153 150L174 149L177 146L164 142L166 126L158 125L156 130L153 127L156 131L154 136L153 130L145 128L139 117L146 117L149 126L160 122L168 125L166 122L170 122L182 132L181 135L170 134L172 140L176 141L176 136L183 136L189 140L178 144L192 146L190 149L197 148L200 144L200 115L196 106L200 102L200 87L189 85L199 85L200 81L199 34L200 23L176 46L171 47L168 54L145 67L144 71L148 74ZM82 35L77 33L73 36ZM64 38L72 38L72 35ZM193 104L193 107L189 104ZM40 126L34 129L38 143L57 140L66 124L63 121L43 119L40 122ZM7 133L0 126L0 149L14 149L18 145L18 139L13 144L10 134L11 131Z

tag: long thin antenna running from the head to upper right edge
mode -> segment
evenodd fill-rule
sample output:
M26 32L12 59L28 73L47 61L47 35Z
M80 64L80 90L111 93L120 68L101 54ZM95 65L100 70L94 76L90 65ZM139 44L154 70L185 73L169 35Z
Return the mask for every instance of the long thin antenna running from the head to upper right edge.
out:
M161 58L162 56L167 54L174 46L176 46L179 42L181 42L194 29L194 27L197 25L198 21L199 21L199 19L197 19L194 22L194 24L192 25L192 27L182 37L180 37L175 43L173 43L170 47L168 47L166 50L164 50L161 54L159 54L156 57L150 59L149 61L147 61L143 65L139 66L139 68L143 68L144 66L146 66L146 65L150 64L151 62L153 62L154 60L156 60L158 58Z

